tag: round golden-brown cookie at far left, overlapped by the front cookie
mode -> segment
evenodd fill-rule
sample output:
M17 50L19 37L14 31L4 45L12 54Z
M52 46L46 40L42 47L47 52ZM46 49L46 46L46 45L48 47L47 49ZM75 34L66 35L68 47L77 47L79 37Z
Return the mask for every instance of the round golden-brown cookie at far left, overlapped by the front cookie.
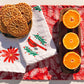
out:
M12 17L20 16L22 17L21 12L15 7L7 7L2 11L2 22L5 26L8 26L9 21Z

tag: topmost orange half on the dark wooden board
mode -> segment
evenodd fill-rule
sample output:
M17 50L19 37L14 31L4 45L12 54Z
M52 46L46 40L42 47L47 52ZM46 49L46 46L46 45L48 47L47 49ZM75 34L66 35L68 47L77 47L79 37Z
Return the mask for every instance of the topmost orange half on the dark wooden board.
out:
M63 15L63 24L69 28L76 28L80 24L80 14L76 10L68 10Z

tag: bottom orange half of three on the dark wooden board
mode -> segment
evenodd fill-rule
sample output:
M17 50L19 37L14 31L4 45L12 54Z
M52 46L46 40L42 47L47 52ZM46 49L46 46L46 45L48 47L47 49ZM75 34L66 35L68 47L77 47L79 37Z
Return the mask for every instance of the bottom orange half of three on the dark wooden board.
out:
M63 57L63 64L68 69L76 69L81 63L81 57L76 52L68 52Z

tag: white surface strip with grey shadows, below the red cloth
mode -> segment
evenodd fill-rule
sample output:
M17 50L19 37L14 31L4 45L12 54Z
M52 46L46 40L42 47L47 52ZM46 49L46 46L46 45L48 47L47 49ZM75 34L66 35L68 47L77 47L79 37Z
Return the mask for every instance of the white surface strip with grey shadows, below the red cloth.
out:
M0 80L0 84L84 84L84 81L52 80L52 81L21 81L21 80Z

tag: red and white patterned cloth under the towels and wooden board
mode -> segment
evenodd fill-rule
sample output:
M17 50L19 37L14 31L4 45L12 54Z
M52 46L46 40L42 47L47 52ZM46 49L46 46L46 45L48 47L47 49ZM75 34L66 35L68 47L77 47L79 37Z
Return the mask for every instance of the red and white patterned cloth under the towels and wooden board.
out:
M34 7L34 6L32 6ZM41 9L43 11L43 14L46 18L50 33L53 37L53 40L55 44L58 42L58 31L59 31L59 15L60 10L63 8L72 7L76 8L80 15L81 15L81 68L78 73L75 74L66 74L61 71L60 68L60 62L59 62L59 56L55 55L53 57L50 57L48 59L45 59L43 61L40 61L38 63L32 64L27 66L26 73L20 74L20 73L6 73L6 72L0 72L0 79L23 79L25 80L45 80L43 75L40 76L38 73L39 68L47 67L47 71L50 74L50 78L47 80L84 80L84 6L66 6L66 5L58 5L58 6L51 6L51 5L43 5L41 6ZM57 45L57 44L56 44ZM38 69L37 69L38 68ZM31 77L29 73L31 73L33 70L37 69L37 72L35 74L38 74L37 77L33 76ZM46 74L48 76L48 74Z

